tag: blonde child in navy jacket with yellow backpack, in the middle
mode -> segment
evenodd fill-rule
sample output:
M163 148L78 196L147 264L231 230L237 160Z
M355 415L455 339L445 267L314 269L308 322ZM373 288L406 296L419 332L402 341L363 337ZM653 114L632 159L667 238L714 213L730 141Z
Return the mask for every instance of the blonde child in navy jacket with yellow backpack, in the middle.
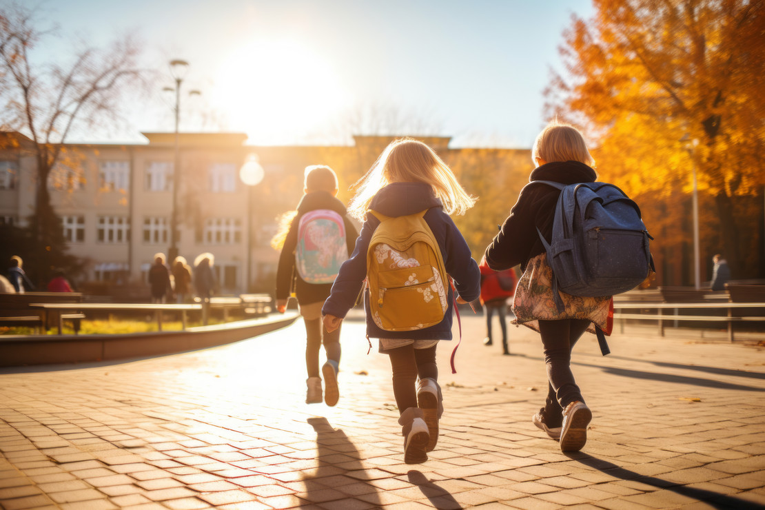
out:
M357 184L349 213L363 227L322 307L324 326L340 326L366 280L366 336L379 339L379 351L390 356L404 461L423 463L443 412L435 352L439 340L451 340L451 278L457 303L480 294L478 265L449 217L464 214L475 199L428 145L412 138L393 141Z

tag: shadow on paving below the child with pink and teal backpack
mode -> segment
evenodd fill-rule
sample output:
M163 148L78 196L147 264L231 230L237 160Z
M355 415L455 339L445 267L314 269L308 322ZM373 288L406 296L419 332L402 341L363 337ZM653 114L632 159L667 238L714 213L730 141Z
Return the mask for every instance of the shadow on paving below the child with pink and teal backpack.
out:
M346 473L350 471L365 469L359 460L359 450L356 450L356 446L348 439L345 432L332 428L332 425L330 425L330 422L325 417L308 418L308 424L316 430L317 460L319 461L319 467L314 472L314 475L303 478L305 490L308 493L308 500L314 502L313 500L316 499L316 502L325 503L327 502L326 495L322 494L321 497L311 498L311 492L334 489L343 493L345 498L356 497L371 505L375 505L375 508L381 508L382 502L379 499L376 487L366 483L363 479L353 477L356 481L346 484L363 484L368 488L365 492L354 491L358 495L350 495L343 491L343 485L337 484L337 480L330 481L330 478L347 476ZM325 485L324 481L329 483ZM343 499L343 497L338 497L337 499Z

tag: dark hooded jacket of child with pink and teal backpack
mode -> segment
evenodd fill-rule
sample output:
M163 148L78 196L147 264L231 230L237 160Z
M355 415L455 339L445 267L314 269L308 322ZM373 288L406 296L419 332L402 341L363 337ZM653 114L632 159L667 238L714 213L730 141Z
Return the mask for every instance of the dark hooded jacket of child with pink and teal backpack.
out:
M298 272L295 271L298 224L305 213L318 209L332 210L343 216L348 253L353 251L353 242L356 241L358 231L356 231L356 227L351 223L343 203L333 197L332 193L328 191L311 191L311 193L306 193L301 198L300 203L298 203L298 214L292 219L289 232L285 238L285 245L282 248L282 254L279 255L279 265L276 271L276 299L287 299L289 297L292 278L295 278L295 295L298 297L298 303L301 306L324 301L330 295L332 284L309 284L300 278Z

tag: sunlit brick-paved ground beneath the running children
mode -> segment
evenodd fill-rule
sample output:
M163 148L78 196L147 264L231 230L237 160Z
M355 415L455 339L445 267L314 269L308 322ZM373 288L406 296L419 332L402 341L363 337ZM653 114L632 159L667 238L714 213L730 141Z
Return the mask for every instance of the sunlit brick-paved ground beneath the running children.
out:
M627 330L575 373L594 411L581 453L530 421L539 339L514 356L468 317L427 463L403 463L386 356L343 327L340 403L304 401L304 330L112 365L0 372L0 506L18 508L761 508L765 353Z

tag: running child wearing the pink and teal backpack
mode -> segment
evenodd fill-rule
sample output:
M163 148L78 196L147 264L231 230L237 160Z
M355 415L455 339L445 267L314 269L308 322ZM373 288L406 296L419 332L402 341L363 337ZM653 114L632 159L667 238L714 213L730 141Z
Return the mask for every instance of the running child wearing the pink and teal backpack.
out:
M321 367L324 401L333 406L340 398L337 387L340 330L330 333L324 329L321 306L330 294L340 265L353 251L357 232L347 216L346 207L337 200L338 189L337 175L330 167L307 167L304 195L298 208L285 213L282 228L272 240L274 248L282 249L276 272L276 308L284 313L288 297L294 295L305 323L306 404L322 400L319 375L322 344L327 353L327 362Z

